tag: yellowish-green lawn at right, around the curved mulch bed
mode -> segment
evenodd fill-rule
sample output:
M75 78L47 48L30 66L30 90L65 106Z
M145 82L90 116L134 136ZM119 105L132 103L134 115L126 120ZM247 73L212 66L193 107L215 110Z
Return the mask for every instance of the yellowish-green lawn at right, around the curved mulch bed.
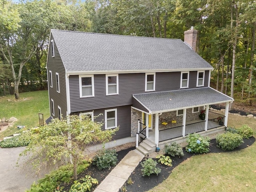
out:
M248 124L256 136L256 119L229 115L228 126ZM256 142L252 146L221 154L202 154L182 162L170 176L148 192L255 192Z

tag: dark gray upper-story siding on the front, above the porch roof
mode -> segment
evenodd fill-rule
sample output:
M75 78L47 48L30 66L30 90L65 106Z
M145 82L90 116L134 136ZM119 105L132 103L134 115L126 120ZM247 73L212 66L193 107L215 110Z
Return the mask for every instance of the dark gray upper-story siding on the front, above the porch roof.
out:
M180 72L156 73L156 92L179 90L180 75ZM106 77L105 74L99 74L94 75L94 97L87 98L80 98L78 75L69 76L71 112L132 105L132 94L145 93L145 73L118 76L118 95L106 96ZM189 78L189 88L196 88L197 71L191 71ZM205 84L208 85L208 78L205 78Z

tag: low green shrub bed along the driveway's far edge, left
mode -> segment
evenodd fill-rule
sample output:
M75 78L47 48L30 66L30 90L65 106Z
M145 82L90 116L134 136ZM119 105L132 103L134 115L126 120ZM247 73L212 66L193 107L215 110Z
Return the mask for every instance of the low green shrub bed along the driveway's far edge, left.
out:
M29 142L30 140L28 140L27 138L24 138L23 135L17 135L9 139L2 140L0 142L0 147L2 148L22 147L22 146L27 146Z

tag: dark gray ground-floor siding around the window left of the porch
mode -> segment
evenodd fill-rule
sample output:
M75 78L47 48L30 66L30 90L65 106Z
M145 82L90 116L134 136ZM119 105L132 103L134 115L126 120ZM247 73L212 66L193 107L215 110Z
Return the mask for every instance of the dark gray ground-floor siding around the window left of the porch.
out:
M98 118L94 119L97 122L103 122L102 130L105 130L105 110L107 109L117 109L117 125L119 126L119 131L113 136L113 139L120 139L131 136L131 107L130 106L117 106L111 108L96 109L94 111L94 116L100 115ZM83 111L90 112L90 111ZM78 113L77 113L78 114Z

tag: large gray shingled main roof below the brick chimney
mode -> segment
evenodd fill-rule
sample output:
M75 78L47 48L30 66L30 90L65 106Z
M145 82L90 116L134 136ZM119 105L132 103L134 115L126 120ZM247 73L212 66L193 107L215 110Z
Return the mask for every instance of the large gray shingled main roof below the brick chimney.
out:
M67 72L212 69L180 39L51 32Z

